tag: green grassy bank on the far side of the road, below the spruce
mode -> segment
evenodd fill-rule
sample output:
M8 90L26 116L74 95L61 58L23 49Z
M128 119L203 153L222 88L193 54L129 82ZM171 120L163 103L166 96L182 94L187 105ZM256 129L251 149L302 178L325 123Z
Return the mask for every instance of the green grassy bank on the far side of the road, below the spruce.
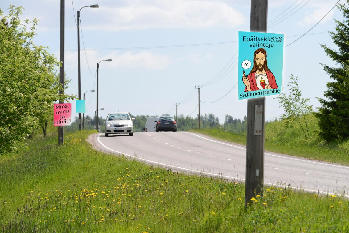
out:
M270 152L299 156L307 159L334 162L349 166L349 140L335 140L325 143L317 136L317 119L309 115L306 117L309 139L305 139L302 129L294 124L286 128L283 121L266 123L265 149ZM191 132L246 145L246 132L229 132L221 129L194 129Z

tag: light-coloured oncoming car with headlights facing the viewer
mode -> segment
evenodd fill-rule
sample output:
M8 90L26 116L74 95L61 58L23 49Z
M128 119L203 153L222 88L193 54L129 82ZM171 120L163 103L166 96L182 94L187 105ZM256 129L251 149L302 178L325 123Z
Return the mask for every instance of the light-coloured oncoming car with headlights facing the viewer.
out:
M116 112L108 114L105 121L105 137L112 133L128 133L133 136L133 123L127 112Z

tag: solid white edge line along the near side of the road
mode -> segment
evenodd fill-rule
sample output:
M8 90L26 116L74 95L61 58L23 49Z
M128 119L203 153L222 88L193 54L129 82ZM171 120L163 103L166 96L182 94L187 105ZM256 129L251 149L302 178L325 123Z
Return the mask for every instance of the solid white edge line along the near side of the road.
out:
M146 161L146 162L151 162L151 163L158 164L158 165L162 165L162 166L177 168L177 169L179 169L179 170L192 172L192 173L195 173L195 174L198 174L198 175L207 175L207 176L214 176L214 177L222 177L222 178L232 179L232 180L236 180L236 181L240 181L240 182L245 182L245 181L246 181L245 179L238 178L238 177L224 176L224 175L221 175L221 174L214 174L214 173L202 172L202 171L193 170L193 169L188 169L188 168L183 168L183 167L177 167L177 166L173 166L173 165L168 165L168 164L166 164L166 163L159 163L159 162L151 161L151 160L148 160L148 159L138 158L138 157L133 156L133 155L125 154L125 153L122 153L122 152L113 150L113 149L107 147L106 145L104 145L104 144L101 142L101 139L100 139L100 136L101 136L101 135L102 135L102 133L98 134L97 140L98 140L98 142L99 142L104 148L106 148L107 150L116 152L116 153L118 153L118 154L127 155L127 156L129 156L129 157L131 157L131 158L135 158L136 160L139 160L139 161ZM194 134L194 135L195 135L195 134ZM267 184L267 185L275 185L274 183L267 183L267 182L264 182L264 184ZM283 187L283 188L292 188L292 189L296 189L296 190L303 190L303 191L306 191L306 192L318 192L318 190L313 190L313 189L302 189L302 188L292 187L292 186L288 186L288 185L277 185L277 186ZM336 195L336 194L333 193L333 192L327 192L327 194ZM349 198L349 195L342 195L342 196Z

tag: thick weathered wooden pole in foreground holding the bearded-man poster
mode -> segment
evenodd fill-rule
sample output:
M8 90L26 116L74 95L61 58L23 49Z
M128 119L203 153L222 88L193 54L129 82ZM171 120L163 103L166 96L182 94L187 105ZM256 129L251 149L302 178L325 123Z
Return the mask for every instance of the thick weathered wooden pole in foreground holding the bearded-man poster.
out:
M250 31L267 31L268 0L251 0ZM265 97L247 100L245 206L255 195L263 195Z

